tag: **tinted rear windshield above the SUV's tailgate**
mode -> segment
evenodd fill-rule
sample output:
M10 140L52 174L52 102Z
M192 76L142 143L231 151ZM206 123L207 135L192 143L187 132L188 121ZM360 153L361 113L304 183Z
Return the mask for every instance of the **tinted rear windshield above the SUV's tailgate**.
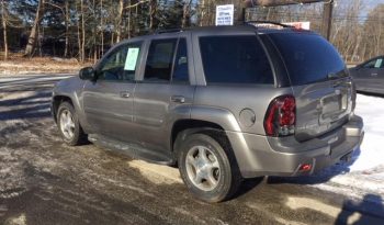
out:
M337 49L315 34L270 34L282 54L291 85L301 86L347 76Z

